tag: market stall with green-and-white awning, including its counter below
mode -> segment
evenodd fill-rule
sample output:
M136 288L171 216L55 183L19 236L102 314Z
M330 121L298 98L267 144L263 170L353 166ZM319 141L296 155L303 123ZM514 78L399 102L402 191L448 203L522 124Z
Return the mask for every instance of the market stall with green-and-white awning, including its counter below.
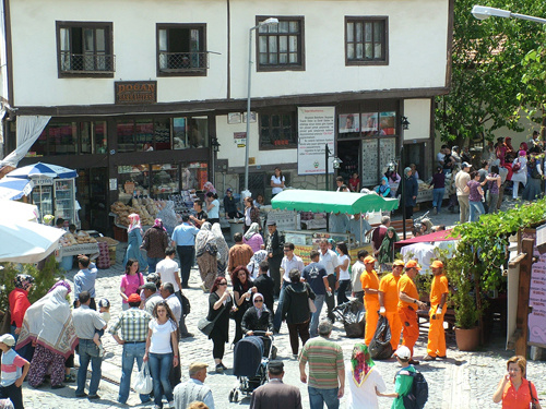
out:
M316 190L285 190L271 201L273 209L312 212L312 213L341 213L347 215L365 214L367 212L393 210L399 206L395 199L383 199L377 194L339 193ZM296 215L294 213L294 215ZM296 225L299 225L296 219ZM278 226L277 226L278 228ZM299 226L297 226L299 228ZM310 262L309 254L318 248L321 239L333 237L337 241L347 243L351 258L356 261L359 250L371 251L371 244L356 241L351 233L330 233L324 230L299 230L278 228L285 234L285 241L295 244L294 253L304 262Z

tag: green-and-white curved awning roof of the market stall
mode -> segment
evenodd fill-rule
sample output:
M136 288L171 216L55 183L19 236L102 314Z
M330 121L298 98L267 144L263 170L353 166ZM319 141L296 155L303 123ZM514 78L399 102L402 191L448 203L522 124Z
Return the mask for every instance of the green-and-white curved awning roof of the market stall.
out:
M285 190L272 199L273 208L300 212L333 212L354 215L357 213L393 210L396 199L383 199L377 194L324 192L320 190Z

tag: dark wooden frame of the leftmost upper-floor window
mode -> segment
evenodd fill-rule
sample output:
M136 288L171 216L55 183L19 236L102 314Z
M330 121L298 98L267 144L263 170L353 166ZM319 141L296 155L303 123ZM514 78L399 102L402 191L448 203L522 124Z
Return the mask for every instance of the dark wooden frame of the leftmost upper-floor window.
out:
M111 71L102 72L67 72L62 70L61 63L61 28L105 28L108 35L108 39L106 41L106 46L108 47L108 56L111 56ZM98 79L112 79L116 73L116 57L114 53L114 23L111 22L67 22L67 21L57 21L56 22L56 36L57 36L57 72L59 79L74 79L74 77L98 77Z

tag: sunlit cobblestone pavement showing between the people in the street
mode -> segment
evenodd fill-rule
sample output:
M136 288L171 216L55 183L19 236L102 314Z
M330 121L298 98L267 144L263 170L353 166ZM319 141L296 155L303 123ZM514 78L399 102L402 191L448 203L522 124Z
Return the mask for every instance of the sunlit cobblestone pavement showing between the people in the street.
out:
M444 217L434 216L435 224L452 225L456 215L448 214ZM453 221L452 221L453 220ZM119 296L119 284L123 269L121 260L124 245L118 246L118 263L109 269L99 270L96 293L97 298L106 297L110 300L112 308L110 310L112 320L121 311L121 298ZM67 278L72 279L75 269L67 273ZM190 289L185 290L185 294L190 299L192 312L187 317L188 329L193 333L194 338L185 339L180 342L180 357L182 365L182 381L187 380L187 370L189 363L193 361L207 362L211 368L205 383L212 388L216 408L236 408L248 406L249 398L242 399L238 404L228 402L228 394L233 387L237 386L237 380L230 375L232 371L225 374L216 374L213 371L214 361L212 358L212 341L197 329L197 322L207 311L207 296L199 289L199 273L192 269L190 279ZM232 339L234 336L234 325L230 323ZM298 363L292 358L287 327L283 325L281 334L275 337L274 344L278 348L278 359L285 362L285 383L296 385L301 389L304 408L309 408L309 398L306 385L299 381ZM479 352L461 352L456 349L454 337L448 337L448 360L434 361L431 363L422 363L418 370L422 371L428 381L429 400L426 408L430 409L478 409L478 408L499 408L499 405L492 404L492 393L497 387L499 380L506 373L506 360L512 356L511 351L503 348L505 335L500 329L495 330L496 341L489 344ZM355 344L355 339L345 337L343 325L336 323L332 334L332 340L339 342L344 352L345 363L349 364L349 357ZM417 359L426 354L427 327L422 326L419 340L415 348ZM88 401L86 399L75 399L75 384L68 384L62 389L51 390L49 386L39 389L33 389L24 384L24 400L26 408L68 408L70 406L85 407L90 409L106 409L127 407L117 404L118 382L121 376L121 347L114 338L106 334L103 337L104 346L107 351L106 359L103 362L103 381L100 382L100 399ZM227 346L226 346L227 347ZM76 356L78 357L78 356ZM228 368L233 366L233 350L227 347L224 360ZM383 375L388 390L394 389L393 378L397 371L397 364L394 360L378 361L377 368ZM74 372L75 374L75 372ZM538 397L546 406L546 363L530 362L527 369L529 377L535 382L538 390ZM347 380L346 382L351 382ZM390 408L392 399L380 398L380 408ZM344 407L345 398L342 399ZM131 393L128 400L130 407L152 408L153 405L142 405L136 394Z

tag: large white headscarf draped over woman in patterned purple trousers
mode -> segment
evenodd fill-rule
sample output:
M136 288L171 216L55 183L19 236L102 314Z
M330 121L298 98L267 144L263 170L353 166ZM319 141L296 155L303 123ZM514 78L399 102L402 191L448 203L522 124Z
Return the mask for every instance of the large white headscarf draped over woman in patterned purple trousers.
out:
M26 310L16 349L36 341L64 358L74 351L78 338L67 294L68 289L58 286Z

